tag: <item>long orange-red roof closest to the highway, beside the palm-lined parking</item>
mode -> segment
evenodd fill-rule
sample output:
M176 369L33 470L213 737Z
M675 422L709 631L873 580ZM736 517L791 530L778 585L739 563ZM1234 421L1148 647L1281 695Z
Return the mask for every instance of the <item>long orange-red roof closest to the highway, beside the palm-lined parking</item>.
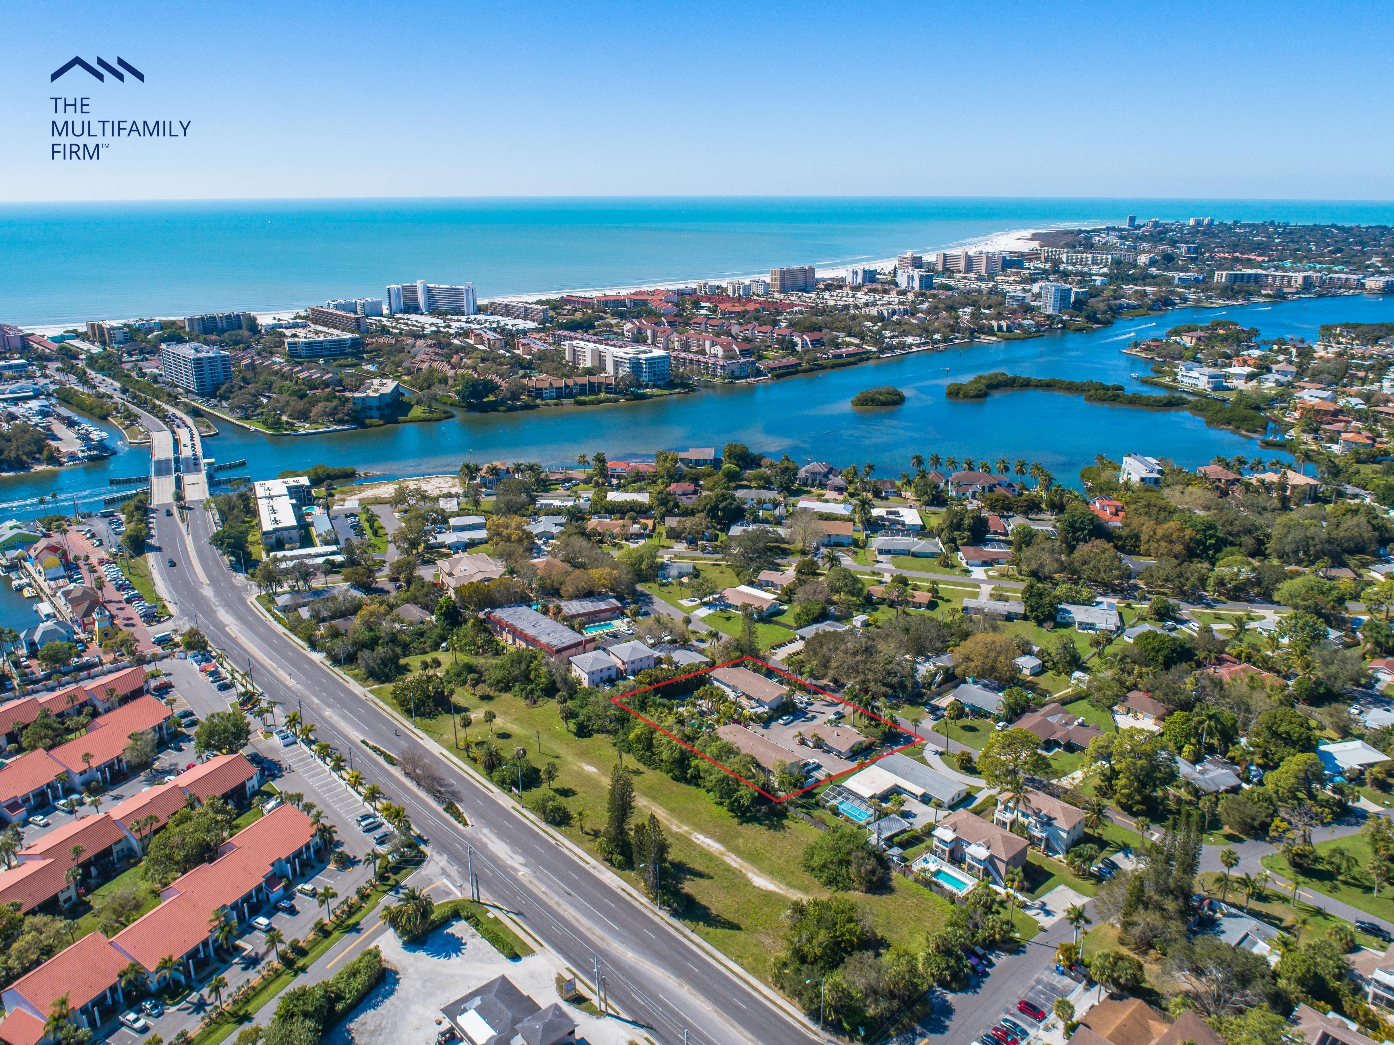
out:
M166 954L183 957L208 936L208 920L216 908L266 881L275 861L298 851L314 835L309 816L294 805L282 805L234 835L212 864L176 878L163 893L164 903L112 942L152 971Z

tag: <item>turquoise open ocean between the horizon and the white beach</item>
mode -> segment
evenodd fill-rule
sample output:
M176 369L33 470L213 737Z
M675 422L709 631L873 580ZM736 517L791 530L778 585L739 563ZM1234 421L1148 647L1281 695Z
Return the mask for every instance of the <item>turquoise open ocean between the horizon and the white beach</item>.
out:
M634 287L878 261L1126 215L1386 224L1390 202L1006 198L321 199L0 205L0 322Z

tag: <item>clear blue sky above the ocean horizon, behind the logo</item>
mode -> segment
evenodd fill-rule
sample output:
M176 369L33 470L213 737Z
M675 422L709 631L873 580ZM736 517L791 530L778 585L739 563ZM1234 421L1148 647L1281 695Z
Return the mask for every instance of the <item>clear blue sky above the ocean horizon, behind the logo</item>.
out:
M6 14L0 199L1394 198L1387 3L77 3ZM74 54L146 74L98 84ZM50 160L52 95L188 141Z

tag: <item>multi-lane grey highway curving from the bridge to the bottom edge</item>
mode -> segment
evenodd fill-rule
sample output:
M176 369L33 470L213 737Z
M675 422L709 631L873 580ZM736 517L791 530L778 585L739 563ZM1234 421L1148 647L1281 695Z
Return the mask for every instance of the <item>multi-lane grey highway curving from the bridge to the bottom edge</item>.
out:
M500 904L559 956L583 981L599 964L604 988L636 1031L659 1045L803 1045L815 1028L775 999L684 927L620 885L604 867L553 836L496 789L445 757L403 720L389 715L357 684L328 667L255 607L252 589L208 543L209 514L194 503L187 520L164 516L173 500L171 433L149 418L152 450L151 563L156 587L180 623L247 665L259 688L283 712L297 709L315 736L347 755L365 783L376 783L404 805L417 832L461 889L473 865L485 899ZM164 433L160 440L159 432ZM185 467L191 458L184 457ZM188 474L188 472L185 472ZM167 496L162 499L167 490ZM173 559L176 566L167 566ZM453 782L470 821L461 829L439 807L360 743L401 754L420 747ZM636 1034L638 1037L638 1034Z

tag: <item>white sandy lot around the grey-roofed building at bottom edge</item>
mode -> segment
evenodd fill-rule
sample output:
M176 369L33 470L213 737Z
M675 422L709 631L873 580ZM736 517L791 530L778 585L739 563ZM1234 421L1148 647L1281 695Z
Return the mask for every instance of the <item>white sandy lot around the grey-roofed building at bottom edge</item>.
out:
M499 975L506 975L544 1009L560 1000L556 974L562 970L551 956L538 953L509 961L468 922L457 921L410 947L388 931L379 932L374 943L396 971L388 973L388 980L364 999L351 1020L325 1037L325 1045L431 1045L445 1025L441 1006ZM626 1045L641 1037L619 1020L587 1016L576 1006L566 1010L576 1020L577 1042Z

